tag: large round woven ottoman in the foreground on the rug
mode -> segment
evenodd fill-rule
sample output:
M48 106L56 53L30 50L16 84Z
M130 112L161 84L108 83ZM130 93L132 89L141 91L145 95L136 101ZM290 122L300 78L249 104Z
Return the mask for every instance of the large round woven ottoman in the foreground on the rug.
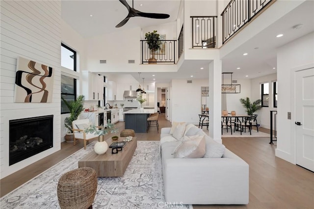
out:
M61 209L88 209L96 195L97 176L92 168L69 171L58 182L57 195Z

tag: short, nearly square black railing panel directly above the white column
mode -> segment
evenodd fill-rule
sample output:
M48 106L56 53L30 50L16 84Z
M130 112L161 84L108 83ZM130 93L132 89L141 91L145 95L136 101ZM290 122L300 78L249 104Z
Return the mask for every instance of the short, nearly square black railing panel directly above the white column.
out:
M215 48L217 16L191 16L192 48Z

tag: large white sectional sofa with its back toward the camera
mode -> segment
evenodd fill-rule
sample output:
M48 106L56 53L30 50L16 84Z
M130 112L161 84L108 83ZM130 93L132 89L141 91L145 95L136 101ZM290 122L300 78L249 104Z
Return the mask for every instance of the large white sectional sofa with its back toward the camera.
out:
M166 202L177 204L248 204L249 165L213 141L196 126L184 135L205 135L206 154L199 158L175 158L174 152L182 142L162 128L160 149ZM171 139L172 138L172 139ZM221 152L222 157L213 157ZM220 150L219 150L220 149Z

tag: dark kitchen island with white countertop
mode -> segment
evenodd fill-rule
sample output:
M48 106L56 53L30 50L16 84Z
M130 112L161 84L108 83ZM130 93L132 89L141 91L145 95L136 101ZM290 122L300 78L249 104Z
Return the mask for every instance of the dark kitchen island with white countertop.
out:
M154 113L155 109L131 109L124 112L125 114L125 129L132 129L135 133L147 132L147 118Z

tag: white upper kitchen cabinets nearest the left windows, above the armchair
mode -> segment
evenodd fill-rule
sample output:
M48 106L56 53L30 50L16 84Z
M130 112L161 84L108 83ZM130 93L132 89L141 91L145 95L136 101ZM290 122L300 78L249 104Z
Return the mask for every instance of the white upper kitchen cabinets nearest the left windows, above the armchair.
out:
M82 95L84 100L103 100L103 78L89 71L82 71Z

